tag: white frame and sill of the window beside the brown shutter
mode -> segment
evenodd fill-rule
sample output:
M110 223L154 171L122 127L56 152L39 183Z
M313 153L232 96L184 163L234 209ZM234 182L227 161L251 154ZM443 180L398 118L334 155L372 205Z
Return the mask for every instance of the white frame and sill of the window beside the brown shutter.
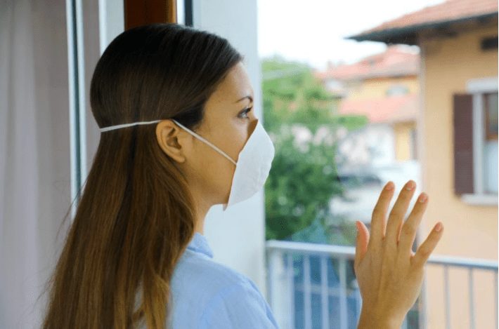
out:
M473 94L473 194L462 194L465 203L477 206L498 204L498 194L484 192L484 93L498 92L498 76L470 79L466 83L467 93Z

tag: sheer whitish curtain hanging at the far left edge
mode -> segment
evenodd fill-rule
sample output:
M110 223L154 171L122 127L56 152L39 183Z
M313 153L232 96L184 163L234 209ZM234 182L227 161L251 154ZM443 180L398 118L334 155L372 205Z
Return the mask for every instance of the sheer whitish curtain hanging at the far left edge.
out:
M39 328L70 223L67 86L65 1L0 0L0 328Z

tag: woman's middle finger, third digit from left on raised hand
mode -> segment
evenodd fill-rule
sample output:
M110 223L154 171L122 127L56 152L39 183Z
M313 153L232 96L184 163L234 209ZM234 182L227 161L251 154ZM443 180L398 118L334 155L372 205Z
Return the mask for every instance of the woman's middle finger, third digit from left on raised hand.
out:
M410 199L413 198L416 189L416 182L409 180L398 194L397 201L394 207L391 208L390 215L387 222L387 239L385 239L385 246L388 248L396 248L398 240L398 231L403 223L404 217L407 213L407 208Z

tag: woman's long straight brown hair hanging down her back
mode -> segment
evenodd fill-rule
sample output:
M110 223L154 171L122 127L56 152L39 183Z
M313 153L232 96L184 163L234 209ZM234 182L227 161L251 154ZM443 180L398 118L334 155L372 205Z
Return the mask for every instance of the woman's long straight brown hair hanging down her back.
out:
M176 119L195 130L210 95L244 57L226 39L174 23L129 29L93 72L101 128ZM169 282L192 239L193 199L155 124L101 133L50 286L43 328L166 328ZM136 296L141 295L136 309Z

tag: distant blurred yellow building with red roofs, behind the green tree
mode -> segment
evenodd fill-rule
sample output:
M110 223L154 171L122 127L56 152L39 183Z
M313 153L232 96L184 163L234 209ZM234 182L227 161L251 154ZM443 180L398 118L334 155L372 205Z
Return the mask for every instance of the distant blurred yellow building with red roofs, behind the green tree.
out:
M407 46L389 46L349 65L332 65L316 78L341 97L342 115L365 115L391 135L390 161L416 159L420 56ZM388 146L387 146L388 147Z

